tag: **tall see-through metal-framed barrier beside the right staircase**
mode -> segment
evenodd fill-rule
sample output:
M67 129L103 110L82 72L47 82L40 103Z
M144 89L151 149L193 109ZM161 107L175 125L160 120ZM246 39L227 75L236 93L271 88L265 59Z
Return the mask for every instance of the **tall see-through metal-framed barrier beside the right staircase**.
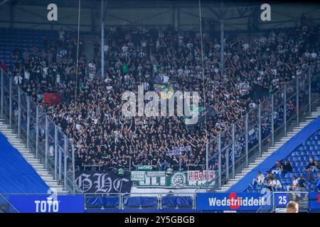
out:
M206 144L206 171L212 167L218 171L218 177L213 179L215 187L209 189L207 179L208 192L221 189L256 157L262 157L262 150L273 147L311 115L318 105L311 99L311 84L318 80L319 64L311 64Z

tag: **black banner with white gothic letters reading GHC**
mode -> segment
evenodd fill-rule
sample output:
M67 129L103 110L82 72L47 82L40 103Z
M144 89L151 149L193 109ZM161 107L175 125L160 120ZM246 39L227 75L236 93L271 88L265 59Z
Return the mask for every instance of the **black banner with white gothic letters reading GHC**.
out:
M130 172L118 175L116 171L76 172L75 184L81 193L129 193L132 181Z

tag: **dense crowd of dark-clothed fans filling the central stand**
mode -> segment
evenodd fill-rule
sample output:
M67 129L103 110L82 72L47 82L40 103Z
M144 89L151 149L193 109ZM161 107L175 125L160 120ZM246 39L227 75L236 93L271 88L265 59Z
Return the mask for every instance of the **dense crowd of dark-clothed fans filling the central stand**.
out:
M262 99L253 99L255 91L274 92L317 60L319 32L320 27L306 25L284 28L257 35L254 43L226 35L221 73L220 40L214 34L203 34L202 65L198 32L170 27L114 28L106 34L105 74L101 76L97 67L100 45L92 48L89 62L85 43L80 40L78 50L75 35L61 29L56 42L43 38L43 49L33 48L31 55L27 50L14 50L14 72L9 75L73 139L78 170L86 165L98 165L102 170L128 169L129 165L132 169L149 165L154 170L200 170L206 164L208 140L261 103ZM182 117L122 115L122 93L137 92L138 85L144 86L144 92L154 90L156 79L172 84L176 91L199 92L199 106L216 113L208 118L207 127L199 124L189 130ZM46 104L42 99L45 92L62 93L63 102ZM265 106L262 111L267 109ZM294 104L289 104L290 110L294 111ZM262 119L262 133L268 132L270 117ZM253 143L257 134L250 135ZM243 143L237 141L237 157ZM166 155L186 146L191 150ZM210 169L216 168L217 160L210 162Z

